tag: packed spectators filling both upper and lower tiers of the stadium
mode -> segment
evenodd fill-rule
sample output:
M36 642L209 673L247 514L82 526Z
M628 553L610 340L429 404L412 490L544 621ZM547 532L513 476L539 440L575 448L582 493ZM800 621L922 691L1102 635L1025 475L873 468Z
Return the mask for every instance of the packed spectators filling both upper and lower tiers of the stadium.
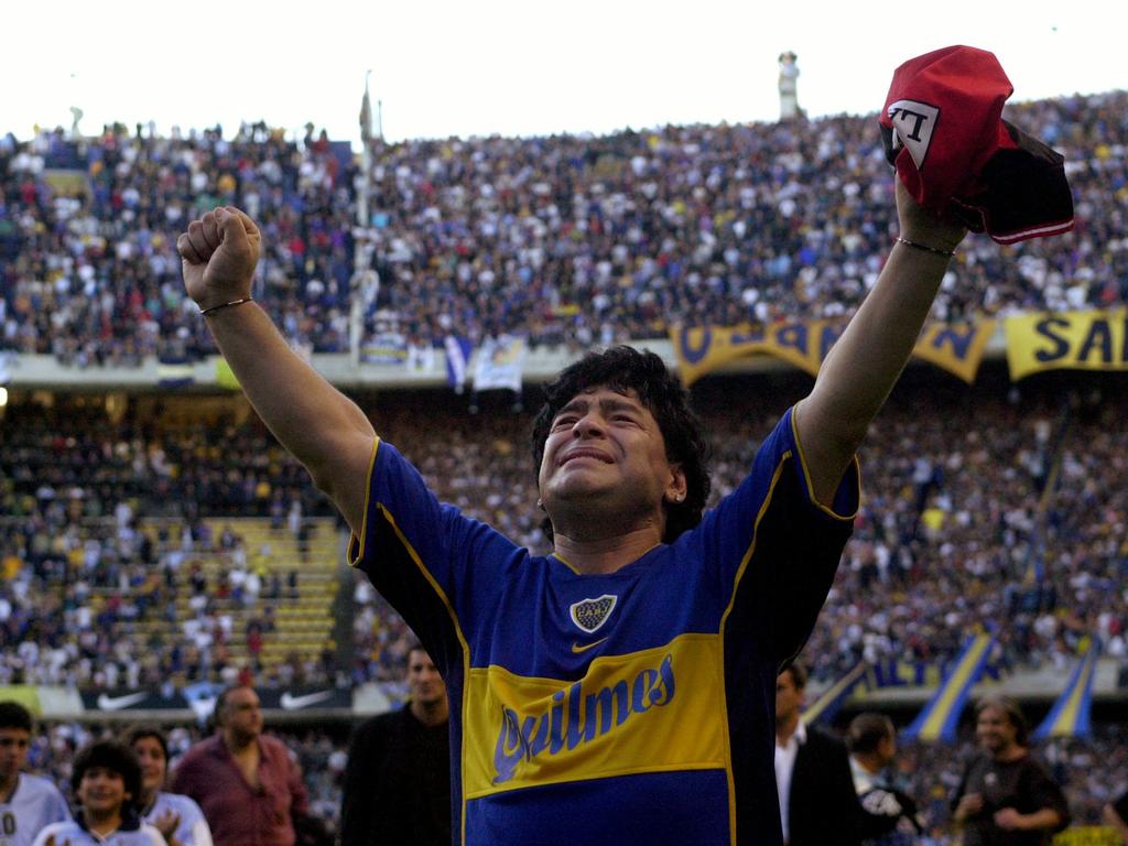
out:
M1024 244L1005 262L1004 248L969 240L936 316L1125 303L1128 95L1016 105L1008 116L1065 152L1077 230ZM377 141L368 226L354 222L364 175L312 129L300 141L262 124L232 139L219 127L170 138L121 126L83 140L8 135L0 350L82 367L211 352L174 244L187 220L223 203L262 223L256 297L308 351L347 349L354 289L367 336L396 332L422 347L514 331L534 345L584 347L662 336L675 321L832 317L864 296L891 236L874 123ZM378 271L379 291L354 285L358 255L359 270ZM695 390L714 437L714 497L739 482L758 439L803 387L760 385L770 399L717 382ZM945 385L899 388L863 451L856 532L805 653L814 677L830 680L860 660L938 664L988 620L999 675L1065 669L1093 638L1123 662L1125 388ZM373 418L441 499L545 550L529 417L467 416L443 402L424 421L411 397L381 396ZM411 633L359 576L351 667L327 659L267 673L230 658L232 638L256 640L252 627L233 628L232 609L261 610L261 644L273 625L267 600L287 588L208 520L258 515L298 531L302 514L331 511L254 420L194 430L162 426L159 415L122 420L95 403L10 406L0 426L0 684L402 678ZM209 583L192 563L197 553L223 556L227 579ZM138 637L152 619L173 623L175 636ZM33 768L64 783L70 756L98 731L46 726ZM194 737L174 730L174 752ZM343 747L324 734L290 744L315 812L332 819ZM969 749L914 746L900 758L935 844L946 843L948 797ZM1100 805L1128 786L1126 750L1117 726L1040 749L1078 822L1095 822Z

